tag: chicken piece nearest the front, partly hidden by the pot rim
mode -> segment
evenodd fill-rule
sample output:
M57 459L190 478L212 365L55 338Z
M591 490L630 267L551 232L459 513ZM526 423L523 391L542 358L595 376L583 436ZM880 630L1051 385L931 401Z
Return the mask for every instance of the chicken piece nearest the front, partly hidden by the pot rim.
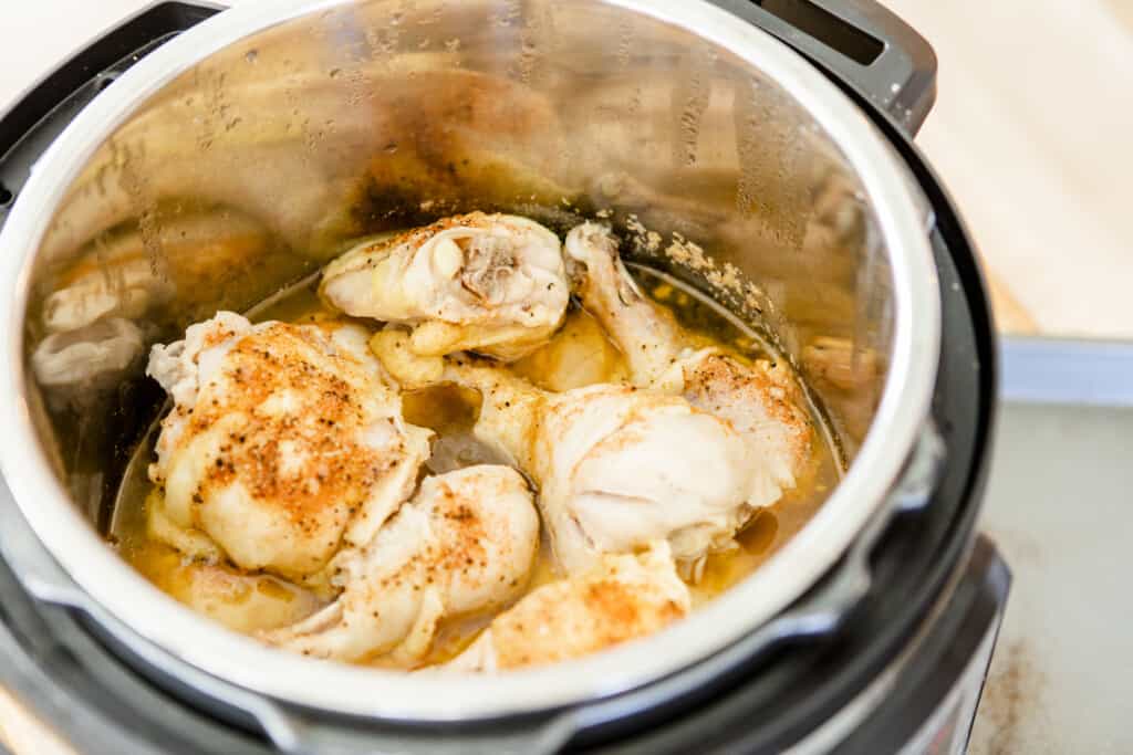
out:
M580 658L646 637L689 611L668 547L603 556L582 574L531 591L445 669L502 671Z

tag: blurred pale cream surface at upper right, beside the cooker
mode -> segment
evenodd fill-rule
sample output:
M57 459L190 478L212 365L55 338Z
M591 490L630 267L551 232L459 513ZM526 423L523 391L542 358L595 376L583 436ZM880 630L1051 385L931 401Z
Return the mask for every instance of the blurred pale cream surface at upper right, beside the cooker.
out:
M1008 332L1133 337L1133 2L889 0L936 49L918 141Z

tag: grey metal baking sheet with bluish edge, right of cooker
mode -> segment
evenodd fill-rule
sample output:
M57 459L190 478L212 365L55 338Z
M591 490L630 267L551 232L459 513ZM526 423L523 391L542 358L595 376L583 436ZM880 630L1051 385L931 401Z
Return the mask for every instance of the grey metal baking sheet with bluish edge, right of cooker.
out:
M983 754L1133 752L1133 344L1006 341L982 530L1014 574Z

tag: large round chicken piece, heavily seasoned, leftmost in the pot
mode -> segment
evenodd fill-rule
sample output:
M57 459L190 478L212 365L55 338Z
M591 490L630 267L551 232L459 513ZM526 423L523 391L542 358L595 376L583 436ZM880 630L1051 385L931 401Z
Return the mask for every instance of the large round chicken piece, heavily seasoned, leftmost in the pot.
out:
M241 568L293 580L369 542L412 492L432 434L403 421L366 337L218 312L154 346L148 374L173 409L150 467L168 526L152 531L182 548L204 535Z

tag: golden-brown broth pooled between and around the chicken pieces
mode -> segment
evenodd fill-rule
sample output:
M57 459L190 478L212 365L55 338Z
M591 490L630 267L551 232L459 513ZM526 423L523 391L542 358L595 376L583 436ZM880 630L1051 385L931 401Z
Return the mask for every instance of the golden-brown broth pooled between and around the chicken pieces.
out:
M766 342L750 327L718 304L683 283L650 268L633 267L642 290L672 310L698 342L721 345L743 359L775 359ZM318 300L317 278L306 281L272 297L249 312L254 320L278 319L312 323L333 318ZM358 320L373 327L373 323ZM512 369L550 391L616 383L628 379L625 362L605 332L586 311L573 303L566 321L539 351L517 362ZM460 466L496 463L486 447L471 435L479 411L479 396L454 386L438 386L403 394L406 420L437 432L433 456L426 467L443 473ZM690 585L693 608L715 598L751 574L799 532L842 473L837 445L821 413L811 404L815 435L811 461L798 484L774 506L758 512L738 535L739 548L708 557L700 581ZM325 604L322 599L289 583L265 575L245 574L225 565L208 565L184 558L173 548L146 537L146 500L156 495L146 477L153 458L156 426L143 441L127 467L111 524L111 541L119 552L154 585L229 627L254 633L304 618ZM550 546L540 542L528 590L557 578ZM492 620L493 615L445 621L424 664L444 662L463 650ZM368 661L393 667L387 658ZM398 666L398 668L404 668Z

